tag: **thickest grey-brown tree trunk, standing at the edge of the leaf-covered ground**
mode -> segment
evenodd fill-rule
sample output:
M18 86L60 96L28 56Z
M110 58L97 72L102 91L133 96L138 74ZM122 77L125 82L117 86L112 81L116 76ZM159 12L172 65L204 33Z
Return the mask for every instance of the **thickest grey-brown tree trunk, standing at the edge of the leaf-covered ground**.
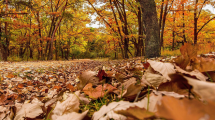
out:
M154 0L142 0L141 7L146 26L145 55L147 58L160 56L160 31Z

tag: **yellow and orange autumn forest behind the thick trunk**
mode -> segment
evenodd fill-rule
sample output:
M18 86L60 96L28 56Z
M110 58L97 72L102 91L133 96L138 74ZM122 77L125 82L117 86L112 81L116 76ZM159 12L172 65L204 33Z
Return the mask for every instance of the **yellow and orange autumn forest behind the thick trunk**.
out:
M61 60L146 54L147 0L1 0L0 59ZM153 0L151 0L153 1ZM142 2L142 3L141 3ZM214 0L154 0L161 55L185 42L214 51ZM149 8L150 9L150 8ZM99 28L89 27L96 15ZM94 21L95 22L95 21Z

